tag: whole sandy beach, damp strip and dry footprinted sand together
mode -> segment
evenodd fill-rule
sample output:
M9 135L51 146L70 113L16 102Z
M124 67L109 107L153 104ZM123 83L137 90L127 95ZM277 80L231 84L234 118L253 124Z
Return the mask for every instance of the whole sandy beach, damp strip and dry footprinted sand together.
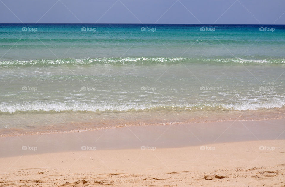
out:
M224 121L1 137L0 186L285 186L284 124Z

